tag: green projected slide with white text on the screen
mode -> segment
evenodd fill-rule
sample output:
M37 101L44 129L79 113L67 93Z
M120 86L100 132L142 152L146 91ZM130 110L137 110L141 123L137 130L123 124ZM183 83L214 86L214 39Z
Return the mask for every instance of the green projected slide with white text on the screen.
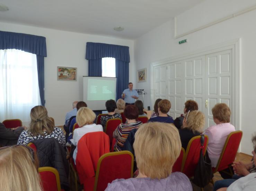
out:
M115 81L88 79L87 100L115 100Z

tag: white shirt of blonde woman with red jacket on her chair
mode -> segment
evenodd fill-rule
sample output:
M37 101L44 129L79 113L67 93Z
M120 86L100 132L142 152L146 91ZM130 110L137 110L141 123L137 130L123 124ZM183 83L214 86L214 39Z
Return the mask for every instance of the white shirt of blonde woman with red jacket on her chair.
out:
M101 125L91 124L91 125L85 125L83 127L77 128L74 130L73 139L70 139L71 143L75 146L77 146L78 141L81 139L83 135L90 132L97 132L97 131L103 131L103 128ZM77 158L77 148L74 150L73 153L73 159L74 163L76 164L76 158Z

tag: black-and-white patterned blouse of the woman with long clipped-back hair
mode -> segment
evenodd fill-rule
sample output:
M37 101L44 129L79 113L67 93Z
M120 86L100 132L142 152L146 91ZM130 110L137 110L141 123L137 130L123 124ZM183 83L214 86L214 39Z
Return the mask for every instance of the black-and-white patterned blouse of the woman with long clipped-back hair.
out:
M28 144L31 141L37 140L37 139L45 139L45 138L54 138L59 141L59 143L65 147L66 141L65 141L65 135L61 128L54 127L53 132L51 134L46 133L44 131L45 136L37 135L33 136L28 130L24 130L19 135L18 143L17 144Z

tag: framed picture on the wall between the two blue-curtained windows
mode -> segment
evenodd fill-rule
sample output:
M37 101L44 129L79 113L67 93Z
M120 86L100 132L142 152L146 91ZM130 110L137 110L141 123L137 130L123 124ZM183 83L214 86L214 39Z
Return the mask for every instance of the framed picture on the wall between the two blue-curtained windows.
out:
M58 66L58 80L77 80L77 68Z

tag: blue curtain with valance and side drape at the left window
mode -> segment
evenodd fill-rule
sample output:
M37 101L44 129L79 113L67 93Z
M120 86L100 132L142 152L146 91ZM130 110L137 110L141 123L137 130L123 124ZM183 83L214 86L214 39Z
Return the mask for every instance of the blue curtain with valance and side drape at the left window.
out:
M17 49L36 54L40 99L44 106L44 57L47 56L45 37L0 31L0 49Z

